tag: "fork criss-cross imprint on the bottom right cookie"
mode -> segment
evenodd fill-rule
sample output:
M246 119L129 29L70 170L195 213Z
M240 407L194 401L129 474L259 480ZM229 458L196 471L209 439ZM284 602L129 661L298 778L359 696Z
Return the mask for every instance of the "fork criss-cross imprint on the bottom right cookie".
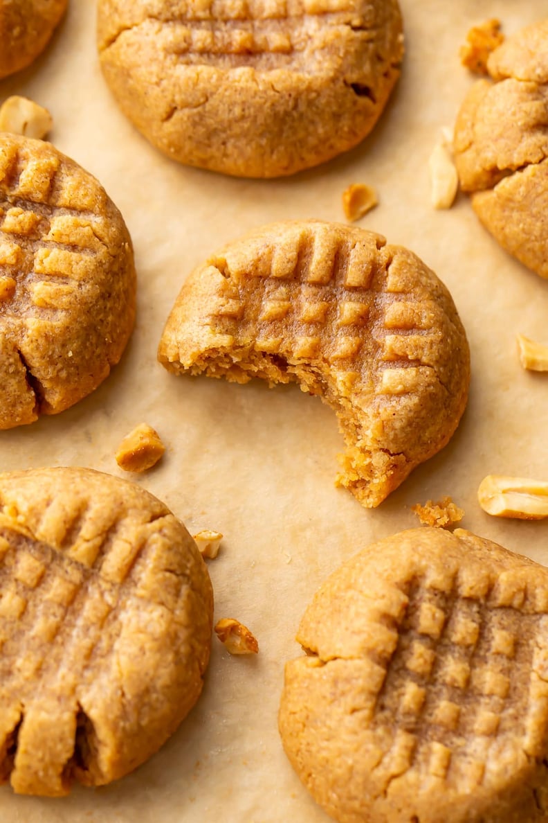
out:
M524 591L511 603L481 602L486 594L463 596L458 584L417 579L383 616L379 629L393 653L386 667L375 666L378 691L368 714L371 730L393 726L394 740L379 752L376 779L388 783L416 769L450 775L465 791L498 767L499 754L491 760L490 751L498 752L504 738L541 756L548 621L520 609Z

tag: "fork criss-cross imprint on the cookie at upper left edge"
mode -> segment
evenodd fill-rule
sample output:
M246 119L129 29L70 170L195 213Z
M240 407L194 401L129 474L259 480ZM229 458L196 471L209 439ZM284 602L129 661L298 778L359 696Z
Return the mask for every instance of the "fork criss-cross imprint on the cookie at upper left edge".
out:
M108 225L96 213L100 196L77 167L59 174L58 156L25 156L14 145L0 151L0 316L35 316L68 309L90 276L108 259ZM99 189L99 187L95 187ZM99 200L98 200L99 196ZM100 205L100 202L99 202Z

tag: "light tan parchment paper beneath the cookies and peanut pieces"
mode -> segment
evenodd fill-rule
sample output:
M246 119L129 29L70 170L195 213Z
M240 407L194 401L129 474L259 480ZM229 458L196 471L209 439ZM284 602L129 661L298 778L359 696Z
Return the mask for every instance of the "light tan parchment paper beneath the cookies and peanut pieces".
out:
M548 564L548 523L490 518L477 486L491 472L548 479L548 375L522 370L518 332L548 342L548 282L499 249L461 197L430 204L427 161L454 123L472 77L458 47L473 24L498 16L507 33L546 14L544 0L401 0L403 77L371 137L348 155L290 179L224 178L176 165L140 137L99 72L94 2L71 0L42 58L0 83L0 100L28 95L53 113L53 142L90 170L122 210L136 249L136 330L122 363L68 412L0 433L3 471L90 466L122 477L114 452L147 421L168 451L138 482L187 523L223 532L210 561L216 619L235 616L259 639L258 657L232 658L217 641L199 703L162 751L107 788L71 797L0 789L2 823L321 823L325 813L283 755L277 710L283 663L300 653L298 621L315 589L369 542L418 524L409 507L452 495L463 526ZM311 123L311 128L314 124ZM182 282L216 247L283 218L343 220L350 183L375 186L380 206L361 221L408 245L444 280L472 348L472 390L457 434L380 509L334 488L342 449L334 414L297 387L269 390L184 379L156 363ZM124 475L127 477L127 475Z

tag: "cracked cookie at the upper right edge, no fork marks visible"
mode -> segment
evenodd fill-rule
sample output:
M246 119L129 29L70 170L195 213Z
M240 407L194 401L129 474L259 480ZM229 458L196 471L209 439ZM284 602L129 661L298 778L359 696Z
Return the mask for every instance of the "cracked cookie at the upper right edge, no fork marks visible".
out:
M454 135L461 187L486 229L548 277L548 20L490 54L491 80L472 86Z

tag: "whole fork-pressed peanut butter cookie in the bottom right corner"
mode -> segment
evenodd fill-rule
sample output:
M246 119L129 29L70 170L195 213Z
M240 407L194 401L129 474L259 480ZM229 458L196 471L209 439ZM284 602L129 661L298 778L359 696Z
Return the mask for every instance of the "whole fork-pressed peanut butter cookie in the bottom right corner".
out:
M548 570L458 529L336 571L288 663L283 746L339 823L548 814Z

